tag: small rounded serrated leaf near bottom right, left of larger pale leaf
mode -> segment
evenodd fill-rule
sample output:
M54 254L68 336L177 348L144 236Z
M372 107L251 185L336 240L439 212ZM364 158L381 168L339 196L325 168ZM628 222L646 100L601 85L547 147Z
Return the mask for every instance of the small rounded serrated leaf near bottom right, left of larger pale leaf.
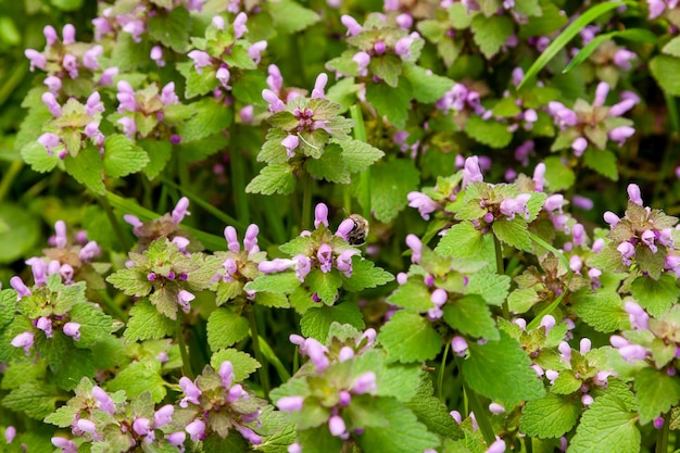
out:
M576 426L581 412L580 401L547 393L544 398L529 401L525 405L519 429L531 437L558 438Z

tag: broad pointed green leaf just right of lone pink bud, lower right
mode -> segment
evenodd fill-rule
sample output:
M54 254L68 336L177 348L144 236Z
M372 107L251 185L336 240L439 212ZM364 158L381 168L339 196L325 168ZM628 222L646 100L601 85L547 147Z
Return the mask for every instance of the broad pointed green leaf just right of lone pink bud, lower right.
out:
M506 410L521 401L545 394L519 343L501 330L501 340L484 344L468 342L469 357L463 362L463 377L478 393L499 401Z

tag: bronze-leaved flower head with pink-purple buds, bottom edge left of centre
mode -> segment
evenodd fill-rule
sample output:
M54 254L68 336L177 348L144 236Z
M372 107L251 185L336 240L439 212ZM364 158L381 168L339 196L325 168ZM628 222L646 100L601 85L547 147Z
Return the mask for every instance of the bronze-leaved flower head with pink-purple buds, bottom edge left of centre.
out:
M193 442L202 441L211 432L224 439L235 429L249 442L255 445L262 443L255 430L261 425L260 415L266 401L236 382L231 362L223 362L217 373L205 366L193 381L182 377L179 387L184 391L179 406L192 414L187 417L191 421L185 430ZM169 436L174 436L174 444L184 444L184 432Z

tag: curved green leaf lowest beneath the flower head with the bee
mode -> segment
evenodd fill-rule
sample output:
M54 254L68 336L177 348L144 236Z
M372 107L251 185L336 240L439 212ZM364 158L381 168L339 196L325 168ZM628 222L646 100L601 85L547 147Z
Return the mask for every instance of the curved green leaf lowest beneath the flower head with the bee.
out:
M355 303L344 302L333 306L315 306L307 310L300 319L300 329L305 337L326 341L332 323L349 324L363 330L366 325L361 310Z

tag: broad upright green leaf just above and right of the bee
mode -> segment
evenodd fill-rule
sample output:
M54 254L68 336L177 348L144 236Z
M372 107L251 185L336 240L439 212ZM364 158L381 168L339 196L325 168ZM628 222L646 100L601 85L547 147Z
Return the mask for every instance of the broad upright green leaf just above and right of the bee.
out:
M354 186L355 191L361 188ZM418 188L418 169L412 160L377 162L370 167L370 209L376 219L391 222L408 203L406 196ZM358 197L360 203L364 197ZM362 207L366 207L363 206Z

